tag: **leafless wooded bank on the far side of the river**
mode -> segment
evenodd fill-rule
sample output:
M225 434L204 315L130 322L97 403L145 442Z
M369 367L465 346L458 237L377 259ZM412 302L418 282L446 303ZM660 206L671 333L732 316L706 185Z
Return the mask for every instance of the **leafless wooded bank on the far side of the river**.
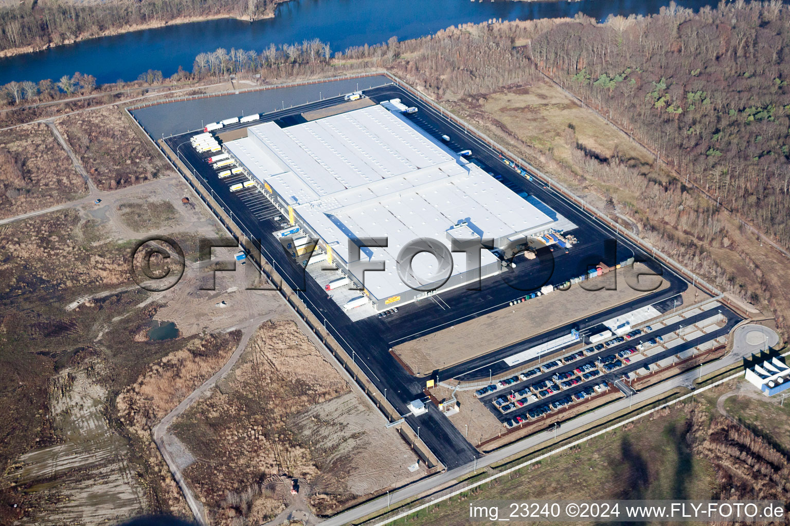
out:
M153 0L146 2L59 2L22 0L0 8L0 50L40 49L134 25L179 18L228 15L264 17L284 0Z

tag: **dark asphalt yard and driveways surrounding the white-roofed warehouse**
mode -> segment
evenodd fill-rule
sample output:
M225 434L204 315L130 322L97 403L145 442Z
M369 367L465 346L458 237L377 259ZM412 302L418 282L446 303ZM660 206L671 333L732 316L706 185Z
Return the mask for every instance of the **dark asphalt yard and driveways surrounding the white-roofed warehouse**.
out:
M553 284L565 282L587 270L589 265L595 265L600 261L613 264L616 261L622 261L634 256L638 260L645 261L645 264L656 274L661 274L664 279L670 282L668 289L651 293L640 298L638 302L615 309L615 311L631 310L641 304L666 300L687 289L687 282L672 270L663 267L660 263L641 253L630 241L619 237L617 233L609 229L604 223L592 218L586 211L581 211L563 196L551 191L549 188L544 188L535 179L528 181L525 177L510 169L498 159L496 152L491 151L487 145L480 143L472 136L468 136L463 129L458 129L456 125L442 119L430 107L416 99L412 99L408 92L390 85L367 90L366 95L377 103L384 99L398 97L408 106L417 106L419 112L413 118L428 133L433 136L437 136L437 134L439 136L442 134L450 135L450 147L454 151L471 149L472 155L479 162L490 166L492 172L502 177L502 184L508 185L515 192L528 192L530 195L536 196L549 207L574 222L578 228L574 229L572 233L577 237L578 244L574 245L568 254L564 253L564 251L562 253L558 253L559 251L552 253L550 268L538 269L530 265L520 264L515 269L507 270L500 277L491 278L483 282L483 287L480 291L455 289L447 293L434 295L434 297L429 297L429 299L419 303L404 305L399 308L396 315L390 315L386 318L373 316L352 323L342 309L333 300L327 298L323 288L324 284L319 284L311 278L306 278L303 267L296 263L271 235L273 231L280 229L282 220L276 220L276 217L281 215L281 212L265 196L261 196L254 189L231 192L229 189L230 184L240 180L237 181L231 178L218 179L216 172L205 162L204 158L207 155L198 155L190 147L190 136L202 130L172 136L167 138L166 142L176 152L182 162L186 166L190 166L190 169L194 171L198 180L202 182L205 192L211 193L239 228L250 239L255 240L254 243L261 250L261 255L276 268L278 273L292 288L300 291L299 297L314 311L318 319L324 321L325 326L333 333L340 345L344 345L349 354L353 353L359 366L367 372L369 378L378 389L382 392L386 390L387 398L401 414L408 412L406 404L409 401L423 397L425 378L416 378L409 375L397 363L389 353L389 348L393 345L393 341L418 338L432 331L442 330L442 328L453 323L459 323L465 319L484 315L497 308L505 307L510 301L523 297L525 292L540 289L540 286L546 282ZM343 102L342 97L324 99L316 103L299 106L299 108L267 114L264 120L286 118L307 110L315 110L341 102ZM223 131L226 131L226 129ZM154 138L156 139L156 137ZM611 240L616 240L616 243L613 243ZM591 317L585 320L585 323L592 325L608 317L611 317L610 311ZM571 326L574 326L574 323L569 323L556 331L567 333L570 331ZM495 335L492 335L492 338L495 338ZM542 334L537 339L540 338L547 340L555 338L555 336ZM534 345L532 340L535 339L531 338L524 345ZM449 378L449 375L462 374L469 369L478 367L477 364L479 363L501 359L502 356L499 356L496 352L490 353L490 355L481 356L473 360L475 362L473 364L461 364L453 367L450 371L441 371L441 376L442 378ZM619 371L619 374L622 374L622 371ZM470 459L476 457L477 453L474 447L433 405L429 405L429 411L426 414L408 416L407 420L412 427L416 428L419 426L421 428L420 438L426 442L427 446L436 453L438 458L448 468L468 463Z

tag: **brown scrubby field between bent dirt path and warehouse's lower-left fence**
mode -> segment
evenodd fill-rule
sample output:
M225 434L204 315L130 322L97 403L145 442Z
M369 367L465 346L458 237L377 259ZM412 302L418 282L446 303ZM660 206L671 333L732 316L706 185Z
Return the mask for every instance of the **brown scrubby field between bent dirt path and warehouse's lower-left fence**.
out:
M417 457L384 423L294 322L280 320L261 325L173 430L201 459L184 473L214 524L255 524L292 504L291 478L323 514L423 476L408 471Z

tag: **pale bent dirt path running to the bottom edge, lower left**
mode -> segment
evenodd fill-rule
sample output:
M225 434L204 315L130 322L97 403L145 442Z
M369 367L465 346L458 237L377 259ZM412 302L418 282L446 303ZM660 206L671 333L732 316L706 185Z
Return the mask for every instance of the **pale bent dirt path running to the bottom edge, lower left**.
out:
M167 463L167 467L170 468L171 473L173 474L173 478L175 482L179 484L182 493L184 494L184 498L186 499L186 504L190 506L190 510L194 515L198 524L201 526L205 526L208 524L208 520L205 517L205 509L203 504L195 498L192 490L186 484L186 480L184 480L184 476L181 472L181 468L179 467L179 463L175 461L175 452L168 449L169 446L174 443L171 440L171 435L167 434L167 428L170 427L170 424L173 423L173 420L178 418L182 415L186 409L190 408L198 398L201 397L207 390L211 389L216 382L219 382L221 379L224 378L225 375L228 374L233 366L239 361L239 357L242 356L244 349L246 348L247 342L250 341L250 338L253 334L255 334L255 330L258 329L258 326L269 319L271 316L259 316L258 318L250 319L244 326L238 327L242 330L242 339L239 341L239 345L236 347L233 354L231 354L230 359L222 366L219 371L216 371L214 375L203 382L203 384L198 387L198 389L192 391L192 393L186 397L179 405L175 407L171 412L165 416L162 421L156 424L156 427L153 428L153 440L156 443L156 447L159 448L160 453L162 453L162 457L164 461Z

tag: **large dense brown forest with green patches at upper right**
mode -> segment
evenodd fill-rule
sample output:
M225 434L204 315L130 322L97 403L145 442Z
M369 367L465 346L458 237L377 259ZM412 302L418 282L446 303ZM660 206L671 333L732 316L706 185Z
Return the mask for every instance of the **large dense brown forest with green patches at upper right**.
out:
M790 244L787 6L566 21L522 49L682 180Z

